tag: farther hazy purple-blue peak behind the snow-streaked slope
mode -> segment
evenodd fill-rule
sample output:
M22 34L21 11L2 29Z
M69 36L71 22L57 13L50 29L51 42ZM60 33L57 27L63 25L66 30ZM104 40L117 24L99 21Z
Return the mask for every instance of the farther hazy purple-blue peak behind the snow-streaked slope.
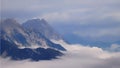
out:
M31 19L23 23L23 26L26 29L38 31L49 39L62 39L62 37L48 24L45 19Z

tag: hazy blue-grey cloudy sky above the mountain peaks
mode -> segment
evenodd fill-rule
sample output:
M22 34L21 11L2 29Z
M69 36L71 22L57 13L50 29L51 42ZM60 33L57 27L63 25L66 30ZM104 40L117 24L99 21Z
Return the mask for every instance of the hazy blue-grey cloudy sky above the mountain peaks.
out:
M0 1L2 18L16 18L22 22L45 18L50 24L59 24L57 29L63 34L120 37L120 0Z

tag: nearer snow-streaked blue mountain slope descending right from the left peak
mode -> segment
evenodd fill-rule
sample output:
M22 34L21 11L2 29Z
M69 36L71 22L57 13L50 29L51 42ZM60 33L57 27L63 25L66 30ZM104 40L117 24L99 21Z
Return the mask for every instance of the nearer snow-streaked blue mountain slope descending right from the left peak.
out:
M23 28L14 19L6 19L2 21L0 25L2 25L0 28L0 37L16 44L19 47L54 48L65 51L65 48L63 48L61 45L54 44L43 34L38 33L37 31Z

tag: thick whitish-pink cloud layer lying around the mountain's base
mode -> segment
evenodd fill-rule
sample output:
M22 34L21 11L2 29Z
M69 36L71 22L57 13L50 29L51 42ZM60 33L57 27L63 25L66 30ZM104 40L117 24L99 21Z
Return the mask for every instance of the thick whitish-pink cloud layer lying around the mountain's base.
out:
M60 59L32 62L29 60L12 61L0 58L2 68L119 68L120 52L110 53L97 47L74 44Z

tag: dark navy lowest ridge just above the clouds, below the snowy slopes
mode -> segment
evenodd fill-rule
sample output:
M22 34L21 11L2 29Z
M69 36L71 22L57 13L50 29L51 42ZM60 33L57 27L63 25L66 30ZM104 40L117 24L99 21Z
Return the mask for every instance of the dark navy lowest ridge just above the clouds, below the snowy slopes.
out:
M33 61L38 60L51 60L56 59L57 56L62 56L63 54L60 51L48 48L24 48L19 49L15 44L1 39L0 43L0 56L2 57L11 57L13 60L24 60L31 59Z

